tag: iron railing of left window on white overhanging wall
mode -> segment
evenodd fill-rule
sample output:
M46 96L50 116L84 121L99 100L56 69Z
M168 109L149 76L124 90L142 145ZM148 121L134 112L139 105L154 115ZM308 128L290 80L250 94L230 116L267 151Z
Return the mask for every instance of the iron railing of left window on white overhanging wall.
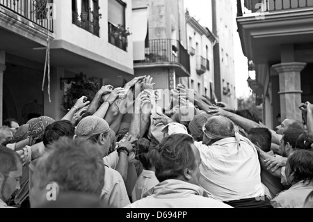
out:
M94 35L99 36L99 24L97 22L90 22L87 14L77 14L72 12L72 23L81 27L81 29L85 29L86 31L93 33Z

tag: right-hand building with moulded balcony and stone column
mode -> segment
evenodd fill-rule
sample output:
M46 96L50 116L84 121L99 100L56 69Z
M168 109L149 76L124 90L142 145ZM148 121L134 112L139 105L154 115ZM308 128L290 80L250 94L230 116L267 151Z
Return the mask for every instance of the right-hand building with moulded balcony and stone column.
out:
M313 101L313 1L237 1L243 53L254 64L250 88L262 97L268 127L302 120L299 105Z

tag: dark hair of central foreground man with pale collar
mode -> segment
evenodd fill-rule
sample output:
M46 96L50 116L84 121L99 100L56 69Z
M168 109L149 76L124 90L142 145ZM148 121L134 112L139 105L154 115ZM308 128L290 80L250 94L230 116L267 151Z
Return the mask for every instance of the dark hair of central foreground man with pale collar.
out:
M155 175L159 182L177 179L184 175L184 170L195 169L195 154L191 145L193 138L186 134L174 134L164 138L152 150L152 163L156 168Z

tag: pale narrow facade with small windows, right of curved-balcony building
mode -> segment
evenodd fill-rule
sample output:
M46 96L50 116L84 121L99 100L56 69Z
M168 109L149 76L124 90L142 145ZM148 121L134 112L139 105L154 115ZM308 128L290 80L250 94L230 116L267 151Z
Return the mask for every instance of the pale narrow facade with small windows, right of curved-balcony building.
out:
M217 38L199 22L186 13L188 51L190 54L191 76L180 82L200 95L214 98L214 45Z

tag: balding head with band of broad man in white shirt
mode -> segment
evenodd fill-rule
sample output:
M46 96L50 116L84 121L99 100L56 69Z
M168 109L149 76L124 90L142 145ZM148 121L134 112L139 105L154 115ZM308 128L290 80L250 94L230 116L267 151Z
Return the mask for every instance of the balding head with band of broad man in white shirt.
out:
M235 125L232 120L223 116L214 116L207 120L204 125L204 144L211 145L220 139L233 137Z

